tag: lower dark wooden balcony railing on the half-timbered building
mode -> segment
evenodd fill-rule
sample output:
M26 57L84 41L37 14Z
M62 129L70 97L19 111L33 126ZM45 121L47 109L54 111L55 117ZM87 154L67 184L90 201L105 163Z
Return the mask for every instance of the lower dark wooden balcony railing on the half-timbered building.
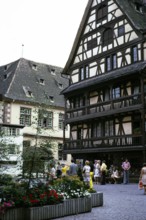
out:
M125 135L117 137L90 138L84 140L66 141L64 150L90 148L118 148L142 145L142 135Z

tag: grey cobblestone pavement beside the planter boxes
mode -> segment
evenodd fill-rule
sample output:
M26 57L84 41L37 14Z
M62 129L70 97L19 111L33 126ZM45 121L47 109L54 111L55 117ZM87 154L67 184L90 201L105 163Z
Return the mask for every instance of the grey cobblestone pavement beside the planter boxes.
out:
M94 188L103 192L102 207L56 220L146 220L146 195L138 184L94 185Z

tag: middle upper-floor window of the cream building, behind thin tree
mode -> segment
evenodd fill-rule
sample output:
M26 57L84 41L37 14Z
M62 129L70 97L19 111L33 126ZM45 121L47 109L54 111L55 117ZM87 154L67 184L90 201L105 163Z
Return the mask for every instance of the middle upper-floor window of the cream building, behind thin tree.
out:
M38 125L41 128L53 127L53 112L39 111Z

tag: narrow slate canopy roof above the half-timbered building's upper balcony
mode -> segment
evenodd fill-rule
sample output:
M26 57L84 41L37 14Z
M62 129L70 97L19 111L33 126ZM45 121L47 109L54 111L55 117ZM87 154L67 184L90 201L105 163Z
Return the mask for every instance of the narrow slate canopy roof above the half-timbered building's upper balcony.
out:
M62 91L62 93L66 94L69 92L73 92L75 90L83 90L83 89L92 87L94 85L97 86L101 82L107 83L107 82L110 82L110 80L113 81L114 79L117 79L117 78L120 79L125 76L127 77L129 75L138 74L138 72L141 72L144 69L146 69L146 62L135 63L133 65L129 65L129 66L120 68L118 70L99 75L96 78L93 77L91 79L87 79L87 80L81 81L79 83L72 84L71 86L66 88L64 91Z

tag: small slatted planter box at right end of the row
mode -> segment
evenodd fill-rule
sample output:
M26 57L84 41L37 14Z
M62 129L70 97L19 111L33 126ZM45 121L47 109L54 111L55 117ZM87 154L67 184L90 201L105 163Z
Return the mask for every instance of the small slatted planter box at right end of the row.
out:
M91 193L91 204L92 207L103 206L103 193L102 192Z

